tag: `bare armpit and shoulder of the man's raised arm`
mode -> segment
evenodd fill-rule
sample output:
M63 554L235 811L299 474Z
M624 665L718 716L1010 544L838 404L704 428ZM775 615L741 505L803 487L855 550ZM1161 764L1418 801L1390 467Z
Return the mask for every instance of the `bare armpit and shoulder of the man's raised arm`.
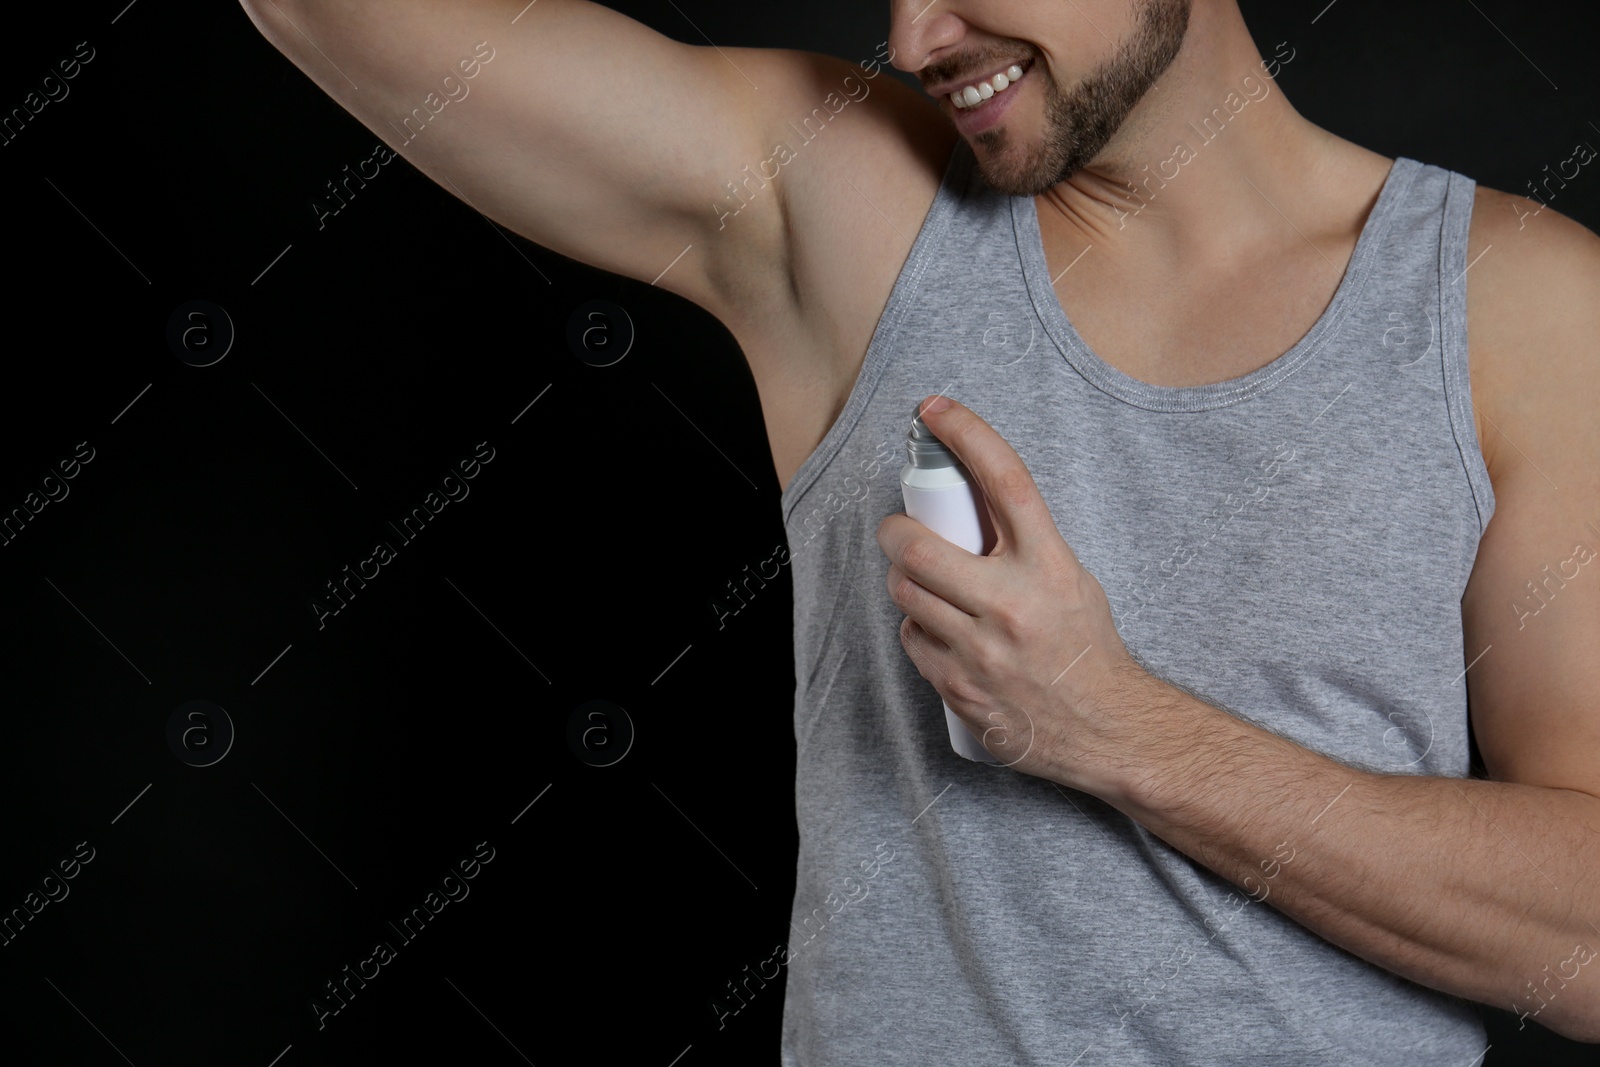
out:
M707 190L706 219L726 250L710 310L757 360L752 349L787 344L773 338L854 360L939 190L954 125L888 72L886 43L858 61L730 53L750 59L762 147ZM770 237L744 242L749 232Z

